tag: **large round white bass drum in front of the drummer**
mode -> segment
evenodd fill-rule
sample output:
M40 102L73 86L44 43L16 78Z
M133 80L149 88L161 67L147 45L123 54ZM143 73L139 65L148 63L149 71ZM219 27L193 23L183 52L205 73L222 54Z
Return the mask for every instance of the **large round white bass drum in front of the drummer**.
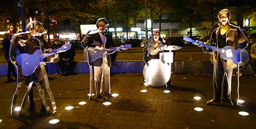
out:
M150 86L163 86L171 77L171 68L160 59L151 59L143 68L143 77Z

